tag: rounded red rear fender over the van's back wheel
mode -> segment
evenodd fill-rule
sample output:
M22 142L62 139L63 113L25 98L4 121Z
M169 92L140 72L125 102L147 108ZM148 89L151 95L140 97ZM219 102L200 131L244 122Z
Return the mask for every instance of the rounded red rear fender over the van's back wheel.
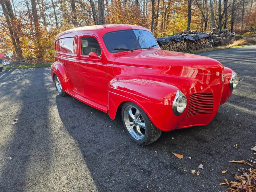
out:
M65 67L59 61L55 61L51 65L51 78L52 78L53 82L54 82L54 74L56 74L58 76L61 86L62 86L62 90L64 92L65 92L65 90L70 89L69 88L70 81L69 81L68 73L67 73Z

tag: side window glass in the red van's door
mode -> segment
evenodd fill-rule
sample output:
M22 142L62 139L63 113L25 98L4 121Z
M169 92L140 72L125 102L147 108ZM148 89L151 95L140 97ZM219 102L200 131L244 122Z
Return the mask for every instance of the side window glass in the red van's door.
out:
M82 37L81 38L82 55L89 55L90 52L101 55L100 45L94 37Z

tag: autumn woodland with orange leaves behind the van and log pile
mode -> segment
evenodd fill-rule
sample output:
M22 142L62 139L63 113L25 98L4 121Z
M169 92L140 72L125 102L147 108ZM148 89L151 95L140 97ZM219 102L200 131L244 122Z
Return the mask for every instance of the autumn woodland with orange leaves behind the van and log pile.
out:
M256 0L0 0L0 52L54 59L64 30L99 24L134 24L164 37L193 29L256 29Z

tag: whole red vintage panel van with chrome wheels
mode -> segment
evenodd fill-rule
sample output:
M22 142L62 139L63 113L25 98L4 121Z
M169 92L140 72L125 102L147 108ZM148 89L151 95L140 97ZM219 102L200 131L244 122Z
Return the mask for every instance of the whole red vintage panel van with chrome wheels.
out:
M52 80L67 94L116 116L126 132L148 145L162 131L207 125L238 84L214 59L161 50L150 30L98 25L64 31L55 39Z

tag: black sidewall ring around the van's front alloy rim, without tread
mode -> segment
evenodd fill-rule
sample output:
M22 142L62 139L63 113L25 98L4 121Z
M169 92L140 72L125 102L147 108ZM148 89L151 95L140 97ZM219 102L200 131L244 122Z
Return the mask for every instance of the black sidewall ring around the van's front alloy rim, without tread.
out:
M130 132L128 131L126 125L125 125L125 122L124 122L124 109L126 108L126 106L128 105L132 105L134 106L136 109L138 109L142 115L142 118L144 120L144 123L145 123L145 126L146 126L146 135L145 137L143 138L143 140L136 140L131 134ZM125 102L123 104L123 107L122 107L122 121L123 121L123 124L124 124L124 128L125 128L125 131L127 132L127 134L129 135L129 137L137 144L139 145L147 145L150 140L151 140L151 124L150 124L150 119L148 118L147 114L135 103L133 102Z

